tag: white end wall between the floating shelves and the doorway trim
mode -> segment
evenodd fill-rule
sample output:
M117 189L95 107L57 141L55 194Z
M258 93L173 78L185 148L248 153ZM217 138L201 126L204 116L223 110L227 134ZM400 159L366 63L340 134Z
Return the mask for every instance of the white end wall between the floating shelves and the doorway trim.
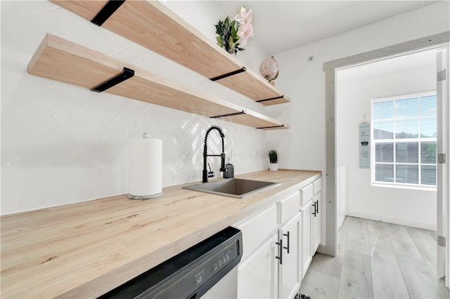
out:
M269 145L278 149L281 168L317 169L323 172L322 215L326 215L326 98L323 63L392 46L450 30L450 3L420 8L275 55L280 65L277 86L290 96L290 104L269 108L271 117L290 124L290 130L269 133ZM333 24L330 24L333 26ZM303 28L302 28L303 29ZM302 29L299 34L302 34ZM308 57L314 56L309 61ZM325 244L326 217L322 218Z

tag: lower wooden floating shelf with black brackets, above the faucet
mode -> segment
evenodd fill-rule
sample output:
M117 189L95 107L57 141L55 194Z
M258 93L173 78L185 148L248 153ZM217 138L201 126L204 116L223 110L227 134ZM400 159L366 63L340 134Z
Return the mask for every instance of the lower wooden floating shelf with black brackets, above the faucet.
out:
M105 93L205 117L220 118L253 128L264 130L289 128L276 119L207 95L52 34L46 34L37 48L28 64L28 73L90 88L92 91L101 91L106 87ZM101 86L102 84L107 86Z

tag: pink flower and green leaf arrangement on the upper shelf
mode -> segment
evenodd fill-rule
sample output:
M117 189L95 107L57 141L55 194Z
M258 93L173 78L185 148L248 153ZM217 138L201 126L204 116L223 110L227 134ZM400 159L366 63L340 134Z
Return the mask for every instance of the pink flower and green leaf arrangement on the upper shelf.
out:
M244 51L250 36L253 37L252 8L249 11L245 6L240 8L240 13L233 20L229 16L224 21L219 19L216 25L217 44L228 53L236 55L238 51Z

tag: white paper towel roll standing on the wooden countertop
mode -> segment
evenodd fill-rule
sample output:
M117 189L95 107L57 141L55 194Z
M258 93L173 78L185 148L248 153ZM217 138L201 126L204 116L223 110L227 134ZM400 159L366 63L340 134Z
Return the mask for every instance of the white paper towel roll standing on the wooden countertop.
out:
M162 140L133 138L129 148L130 199L151 199L162 195Z

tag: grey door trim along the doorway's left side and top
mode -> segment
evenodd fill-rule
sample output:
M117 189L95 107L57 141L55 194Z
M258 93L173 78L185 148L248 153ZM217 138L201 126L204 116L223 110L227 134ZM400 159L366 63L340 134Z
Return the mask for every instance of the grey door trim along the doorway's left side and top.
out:
M423 51L450 42L450 31L413 39L401 44L379 48L357 55L323 63L326 72L326 254L335 256L338 252L338 211L336 204L336 147L335 147L335 72L341 67L350 67L365 62L373 62L414 51Z

